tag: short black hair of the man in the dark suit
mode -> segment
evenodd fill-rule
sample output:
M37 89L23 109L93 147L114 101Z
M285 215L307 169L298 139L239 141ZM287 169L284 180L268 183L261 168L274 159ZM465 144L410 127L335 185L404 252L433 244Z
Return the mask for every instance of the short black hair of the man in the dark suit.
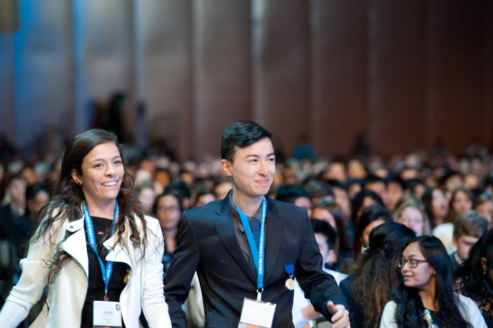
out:
M272 133L255 122L236 121L226 126L222 133L220 150L221 158L233 161L236 147L245 148L263 138L272 141Z

